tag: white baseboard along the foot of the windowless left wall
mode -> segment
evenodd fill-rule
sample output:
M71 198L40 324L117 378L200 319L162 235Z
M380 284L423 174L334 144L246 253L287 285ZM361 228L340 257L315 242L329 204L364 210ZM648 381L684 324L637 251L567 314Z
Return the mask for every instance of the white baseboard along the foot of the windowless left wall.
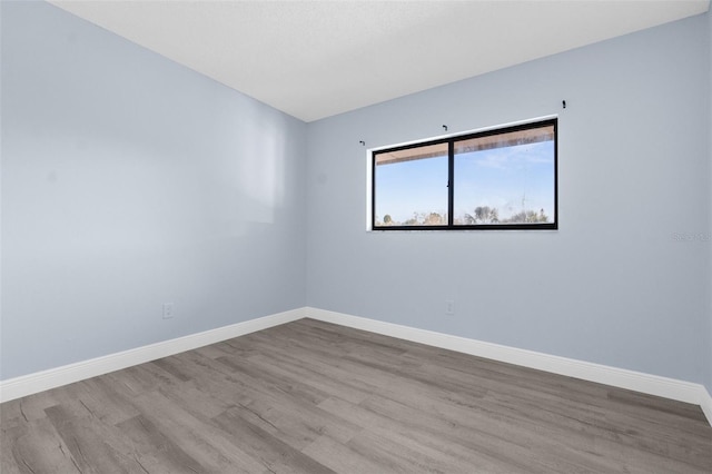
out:
M204 333L191 334L176 339L164 340L135 349L78 362L76 364L0 381L0 403L301 319L305 315L305 308L293 309L206 330Z

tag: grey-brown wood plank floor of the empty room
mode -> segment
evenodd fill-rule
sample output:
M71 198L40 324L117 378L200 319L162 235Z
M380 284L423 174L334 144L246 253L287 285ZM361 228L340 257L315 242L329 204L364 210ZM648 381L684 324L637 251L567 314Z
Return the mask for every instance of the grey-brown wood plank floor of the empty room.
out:
M711 473L699 406L300 319L0 405L11 473Z

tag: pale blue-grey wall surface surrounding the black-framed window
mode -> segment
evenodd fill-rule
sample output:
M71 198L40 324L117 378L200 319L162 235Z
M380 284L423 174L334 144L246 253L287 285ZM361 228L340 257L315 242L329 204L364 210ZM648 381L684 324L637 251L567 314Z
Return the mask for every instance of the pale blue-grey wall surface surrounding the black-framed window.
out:
M709 378L709 38L698 16L310 124L308 305ZM359 140L551 113L560 230L366 231Z

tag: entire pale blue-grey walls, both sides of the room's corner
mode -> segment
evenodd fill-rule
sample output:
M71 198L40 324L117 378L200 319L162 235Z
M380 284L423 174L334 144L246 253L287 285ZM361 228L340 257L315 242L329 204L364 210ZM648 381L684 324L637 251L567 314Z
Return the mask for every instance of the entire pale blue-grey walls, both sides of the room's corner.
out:
M0 12L0 379L306 302L712 392L711 13L306 126L49 4ZM558 231L365 230L358 140L550 113Z

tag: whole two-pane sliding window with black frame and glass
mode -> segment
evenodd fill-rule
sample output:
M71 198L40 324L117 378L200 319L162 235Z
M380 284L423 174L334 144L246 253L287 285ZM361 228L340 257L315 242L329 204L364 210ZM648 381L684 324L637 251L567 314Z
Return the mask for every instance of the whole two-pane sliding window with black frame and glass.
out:
M372 227L556 229L556 119L373 151Z

